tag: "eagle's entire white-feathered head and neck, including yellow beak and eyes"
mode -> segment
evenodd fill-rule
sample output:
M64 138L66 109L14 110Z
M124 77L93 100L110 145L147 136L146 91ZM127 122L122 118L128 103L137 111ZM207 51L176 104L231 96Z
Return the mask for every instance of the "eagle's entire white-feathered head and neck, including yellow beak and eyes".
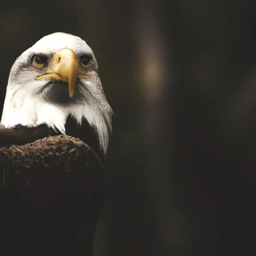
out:
M9 75L1 124L47 124L65 134L71 115L85 119L106 153L112 109L98 74L92 49L80 37L66 33L44 36L14 62Z

